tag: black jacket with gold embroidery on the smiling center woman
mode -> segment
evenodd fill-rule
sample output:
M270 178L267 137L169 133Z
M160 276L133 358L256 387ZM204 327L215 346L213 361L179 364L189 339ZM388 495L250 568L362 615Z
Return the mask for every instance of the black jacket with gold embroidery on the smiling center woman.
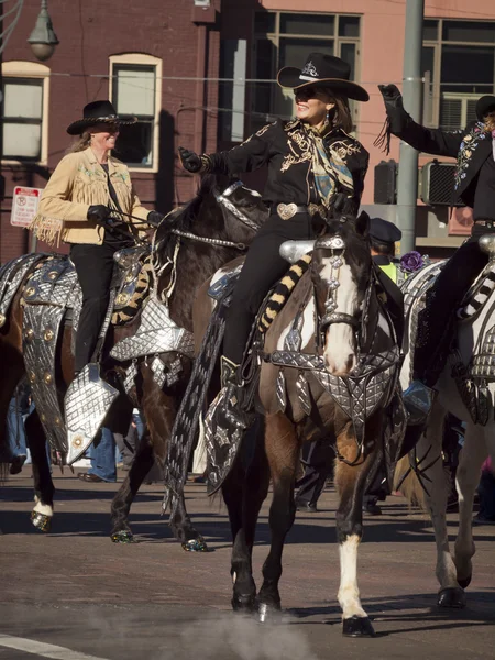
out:
M358 211L367 170L369 153L354 138L339 128L330 131L323 143L330 160L343 161L352 175L352 189L338 185L355 204ZM268 205L295 202L321 204L312 176L312 153L306 129L299 120L277 120L263 127L242 144L230 151L208 156L209 170L239 176L268 165L268 178L263 199Z

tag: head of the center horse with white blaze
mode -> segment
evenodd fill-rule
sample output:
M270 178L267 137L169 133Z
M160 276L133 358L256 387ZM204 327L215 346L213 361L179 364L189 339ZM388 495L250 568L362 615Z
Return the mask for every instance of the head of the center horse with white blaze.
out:
M348 375L358 361L359 330L370 284L369 217L342 216L327 222L315 243L311 278L320 340L328 371Z

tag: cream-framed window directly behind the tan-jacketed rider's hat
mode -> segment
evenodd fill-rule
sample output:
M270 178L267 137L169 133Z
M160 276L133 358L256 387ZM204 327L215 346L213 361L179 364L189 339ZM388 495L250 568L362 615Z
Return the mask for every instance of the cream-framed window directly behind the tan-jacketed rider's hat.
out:
M158 124L162 100L162 61L151 55L110 57L110 98L118 114L138 123L123 125L116 155L133 169L158 168Z

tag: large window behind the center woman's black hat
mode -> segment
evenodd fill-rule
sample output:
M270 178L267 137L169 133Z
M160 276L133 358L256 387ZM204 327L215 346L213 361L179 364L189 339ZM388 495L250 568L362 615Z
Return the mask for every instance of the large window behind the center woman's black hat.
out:
M309 53L337 55L351 66L351 79L359 79L359 15L260 11L254 19L253 78L274 80L283 66L300 68ZM352 103L354 123L358 103ZM251 94L251 130L255 131L271 117L294 117L292 91L273 82L256 82Z

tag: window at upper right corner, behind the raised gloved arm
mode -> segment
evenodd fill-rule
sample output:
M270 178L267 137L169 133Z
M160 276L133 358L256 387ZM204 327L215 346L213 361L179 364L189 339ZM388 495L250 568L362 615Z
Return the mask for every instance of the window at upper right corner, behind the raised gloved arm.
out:
M494 90L495 21L426 19L422 73L430 82L426 123L463 129L475 119L476 100Z

